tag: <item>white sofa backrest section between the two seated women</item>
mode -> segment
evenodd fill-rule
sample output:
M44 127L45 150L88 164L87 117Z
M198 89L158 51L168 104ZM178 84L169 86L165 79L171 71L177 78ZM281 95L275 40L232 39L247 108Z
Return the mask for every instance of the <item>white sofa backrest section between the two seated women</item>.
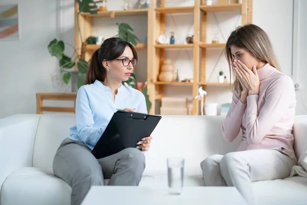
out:
M213 154L235 151L239 135L232 143L223 138L224 116L163 115L152 137L159 140L159 170L166 172L168 157L185 158L185 173L201 172L200 163Z

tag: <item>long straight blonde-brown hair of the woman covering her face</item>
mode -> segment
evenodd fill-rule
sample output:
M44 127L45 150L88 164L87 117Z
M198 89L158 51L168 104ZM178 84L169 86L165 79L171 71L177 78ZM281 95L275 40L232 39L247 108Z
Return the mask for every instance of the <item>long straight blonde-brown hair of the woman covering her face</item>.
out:
M233 76L234 80L233 90L239 87L240 91L242 91L242 86L240 85L235 72L232 72L232 56L230 46L247 50L259 61L269 63L271 66L281 72L268 34L254 24L237 27L234 31L232 31L227 39L225 48L225 56L229 64L230 78Z

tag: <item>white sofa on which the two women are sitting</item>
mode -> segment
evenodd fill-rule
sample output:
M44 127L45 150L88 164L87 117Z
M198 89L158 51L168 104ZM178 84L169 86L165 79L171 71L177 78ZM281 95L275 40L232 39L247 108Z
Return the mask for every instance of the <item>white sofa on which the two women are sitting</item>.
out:
M235 151L240 137L226 142L222 116L162 116L146 155L140 186L166 187L166 158L185 158L184 186L203 186L200 162L212 154ZM54 176L52 161L75 125L70 114L18 114L0 119L1 205L70 204L71 188ZM307 148L307 115L296 116L295 150ZM307 178L253 182L259 204L307 204ZM221 196L223 197L223 196Z

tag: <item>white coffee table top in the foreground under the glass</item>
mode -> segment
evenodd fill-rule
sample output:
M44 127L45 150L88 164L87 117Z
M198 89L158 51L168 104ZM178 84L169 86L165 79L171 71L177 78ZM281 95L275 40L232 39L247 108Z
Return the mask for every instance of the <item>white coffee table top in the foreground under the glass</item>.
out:
M247 204L234 187L184 187L181 195L169 195L166 190L149 187L94 186L82 205L181 205L181 204Z

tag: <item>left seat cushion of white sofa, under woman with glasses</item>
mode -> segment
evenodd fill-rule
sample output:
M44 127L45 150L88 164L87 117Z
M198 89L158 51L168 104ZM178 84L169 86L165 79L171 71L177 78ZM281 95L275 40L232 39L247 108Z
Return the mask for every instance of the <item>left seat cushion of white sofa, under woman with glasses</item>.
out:
M107 185L108 179L104 180ZM158 186L158 175L144 173L139 186ZM51 169L24 167L5 180L1 190L1 204L70 204L71 187L56 177Z

